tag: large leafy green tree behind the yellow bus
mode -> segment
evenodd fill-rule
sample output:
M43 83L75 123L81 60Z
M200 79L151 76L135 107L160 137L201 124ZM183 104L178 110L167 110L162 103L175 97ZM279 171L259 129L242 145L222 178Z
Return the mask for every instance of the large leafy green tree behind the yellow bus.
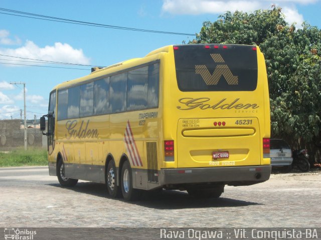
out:
M281 8L226 12L205 21L189 43L258 45L265 56L271 106L271 136L292 147L321 142L321 30L288 25Z

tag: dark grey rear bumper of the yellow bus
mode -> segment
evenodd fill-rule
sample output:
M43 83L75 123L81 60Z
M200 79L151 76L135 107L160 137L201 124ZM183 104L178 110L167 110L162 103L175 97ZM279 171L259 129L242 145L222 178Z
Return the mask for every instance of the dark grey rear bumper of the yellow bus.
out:
M161 184L218 183L252 185L270 178L271 165L162 168Z

